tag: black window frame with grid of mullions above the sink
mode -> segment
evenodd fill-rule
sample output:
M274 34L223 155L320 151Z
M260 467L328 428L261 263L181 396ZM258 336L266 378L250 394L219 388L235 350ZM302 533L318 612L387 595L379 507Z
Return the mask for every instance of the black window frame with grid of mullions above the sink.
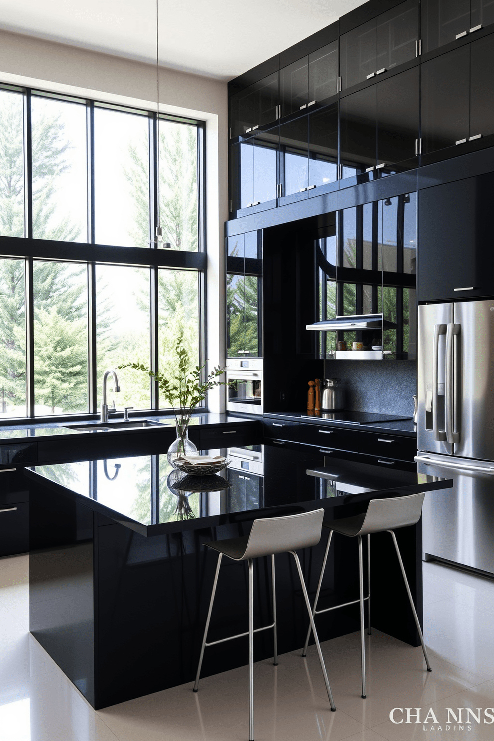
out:
M150 297L150 365L153 371L159 371L158 362L158 270L190 270L198 273L198 349L199 365L206 362L206 191L205 191L205 164L206 164L206 124L200 119L159 113L160 121L194 125L197 128L197 187L198 187L198 251L169 250L158 247L152 235L156 234L158 226L158 163L156 158L158 142L158 114L155 111L126 104L96 101L82 96L64 95L51 90L24 87L0 82L0 90L21 93L24 110L24 236L14 237L0 235L0 258L24 259L25 265L25 313L26 313L26 402L27 416L18 416L1 419L1 425L20 426L30 425L33 422L67 422L71 419L94 419L99 414L97 408L98 379L96 376L96 265L130 266L150 268L151 297ZM36 239L33 237L33 167L32 167L32 130L31 130L31 98L44 96L67 102L84 104L87 111L87 242L62 242L51 239ZM150 146L150 247L121 247L119 245L101 245L94 241L95 212L94 212L94 109L95 107L110 108L122 112L147 116L149 120ZM83 413L67 413L63 415L35 416L35 389L34 389L34 337L33 337L33 261L46 260L56 262L78 262L87 265L88 269L88 411ZM204 370L205 373L205 370ZM171 408L159 407L159 390L157 382L150 382L151 406L149 409L139 410L143 414L163 416L170 414ZM205 410L205 405L201 411Z

